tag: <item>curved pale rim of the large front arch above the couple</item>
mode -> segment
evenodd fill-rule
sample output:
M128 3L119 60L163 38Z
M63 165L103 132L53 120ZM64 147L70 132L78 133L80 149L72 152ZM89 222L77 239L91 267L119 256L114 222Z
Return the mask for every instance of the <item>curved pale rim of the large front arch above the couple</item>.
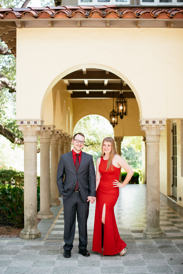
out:
M73 66L71 68L66 69L64 72L61 72L60 74L58 74L58 76L55 77L55 79L52 80L52 82L50 83L50 85L48 86L46 92L44 93L44 97L41 103L41 117L43 117L43 110L44 110L44 104L46 102L46 98L50 92L50 90L55 86L56 83L58 83L59 80L61 80L64 76L68 75L71 72L74 72L78 69L82 69L82 68L99 68L99 69L104 69L107 70L109 72L112 72L114 74L116 74L117 76L119 76L121 79L123 79L128 86L131 88L131 90L133 91L133 93L135 94L138 106L139 106L139 113L140 113L140 117L142 118L142 106L141 106L141 102L140 102L140 98L139 98L139 94L137 93L135 87L133 86L133 84L130 82L130 80L128 78L125 77L125 75L123 75L121 72L119 72L118 70L111 68L107 65L102 65L102 64L80 64L77 66Z

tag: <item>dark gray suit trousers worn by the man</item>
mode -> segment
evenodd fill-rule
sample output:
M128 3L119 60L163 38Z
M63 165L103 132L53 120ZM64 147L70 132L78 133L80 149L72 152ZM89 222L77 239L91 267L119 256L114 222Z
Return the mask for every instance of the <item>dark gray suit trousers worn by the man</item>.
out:
M73 191L63 199L64 206L64 251L72 250L76 228L76 212L79 228L79 250L87 247L87 219L89 202L83 202L80 192Z

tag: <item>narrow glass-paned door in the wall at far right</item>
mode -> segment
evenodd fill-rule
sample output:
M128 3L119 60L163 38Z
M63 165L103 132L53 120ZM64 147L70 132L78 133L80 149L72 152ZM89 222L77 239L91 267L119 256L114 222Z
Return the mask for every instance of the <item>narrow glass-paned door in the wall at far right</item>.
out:
M177 198L177 124L174 123L172 125L172 148L173 148L173 152L172 152L172 160L173 160L173 196L175 198Z

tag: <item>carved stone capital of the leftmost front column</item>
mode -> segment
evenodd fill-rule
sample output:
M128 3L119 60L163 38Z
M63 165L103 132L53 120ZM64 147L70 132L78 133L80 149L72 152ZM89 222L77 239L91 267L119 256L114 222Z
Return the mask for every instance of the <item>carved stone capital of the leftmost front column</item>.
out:
M23 132L23 142L37 143L38 131L42 131L43 127L39 125L19 125L19 131Z

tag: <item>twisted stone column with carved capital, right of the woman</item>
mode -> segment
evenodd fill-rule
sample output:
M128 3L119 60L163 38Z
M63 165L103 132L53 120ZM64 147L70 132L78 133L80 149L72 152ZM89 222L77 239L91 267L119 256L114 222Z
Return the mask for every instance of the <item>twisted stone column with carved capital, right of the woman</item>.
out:
M142 125L146 135L147 227L146 238L163 237L160 228L160 131L164 125Z

